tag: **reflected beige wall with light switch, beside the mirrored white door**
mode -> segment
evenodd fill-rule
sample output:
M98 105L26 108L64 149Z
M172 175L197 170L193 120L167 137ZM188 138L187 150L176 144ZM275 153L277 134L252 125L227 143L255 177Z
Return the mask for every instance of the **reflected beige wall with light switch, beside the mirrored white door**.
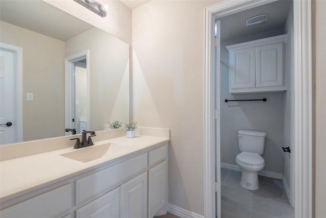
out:
M64 135L65 43L0 22L1 42L23 48L23 140Z

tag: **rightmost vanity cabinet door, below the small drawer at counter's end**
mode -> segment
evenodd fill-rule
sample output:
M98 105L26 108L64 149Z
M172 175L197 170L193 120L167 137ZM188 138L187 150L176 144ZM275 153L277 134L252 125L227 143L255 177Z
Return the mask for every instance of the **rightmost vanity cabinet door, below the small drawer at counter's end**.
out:
M148 217L154 215L167 203L167 161L148 171Z

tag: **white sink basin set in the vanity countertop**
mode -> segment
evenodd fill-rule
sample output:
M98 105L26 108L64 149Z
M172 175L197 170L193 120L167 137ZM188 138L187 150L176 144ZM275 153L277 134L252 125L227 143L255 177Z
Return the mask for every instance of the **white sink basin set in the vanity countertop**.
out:
M127 148L130 148L130 146L117 143L106 143L99 146L90 146L83 149L77 149L76 151L64 153L60 156L86 163L99 159L107 153L119 152Z

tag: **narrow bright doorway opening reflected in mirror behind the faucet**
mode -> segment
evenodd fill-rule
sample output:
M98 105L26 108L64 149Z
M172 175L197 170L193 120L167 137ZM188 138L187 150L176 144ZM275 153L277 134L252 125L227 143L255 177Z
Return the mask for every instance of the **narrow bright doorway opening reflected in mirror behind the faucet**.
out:
M86 59L75 62L75 129L87 130L87 68Z

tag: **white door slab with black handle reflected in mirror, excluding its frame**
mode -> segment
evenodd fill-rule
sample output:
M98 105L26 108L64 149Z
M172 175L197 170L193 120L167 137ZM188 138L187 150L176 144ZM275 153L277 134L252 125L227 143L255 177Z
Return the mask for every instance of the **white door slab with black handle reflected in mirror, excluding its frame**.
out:
M0 144L15 138L15 53L0 50ZM10 123L12 125L10 125Z

